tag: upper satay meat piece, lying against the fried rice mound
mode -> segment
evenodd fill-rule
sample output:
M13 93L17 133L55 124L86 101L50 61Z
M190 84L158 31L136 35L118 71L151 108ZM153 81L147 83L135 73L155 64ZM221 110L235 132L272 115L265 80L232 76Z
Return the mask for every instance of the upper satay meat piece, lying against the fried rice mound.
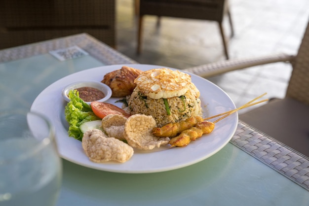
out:
M188 130L202 121L204 120L200 116L190 117L185 121L169 123L161 128L155 127L153 129L153 134L156 137L176 137L182 131Z

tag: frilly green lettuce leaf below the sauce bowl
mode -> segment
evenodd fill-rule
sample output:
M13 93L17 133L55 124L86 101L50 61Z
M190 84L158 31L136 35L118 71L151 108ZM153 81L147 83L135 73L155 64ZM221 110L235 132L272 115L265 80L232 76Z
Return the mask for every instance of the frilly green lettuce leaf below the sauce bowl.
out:
M66 120L69 123L69 136L74 137L81 141L83 133L80 131L79 126L88 121L98 120L91 106L79 98L77 90L69 92L70 102L65 107Z

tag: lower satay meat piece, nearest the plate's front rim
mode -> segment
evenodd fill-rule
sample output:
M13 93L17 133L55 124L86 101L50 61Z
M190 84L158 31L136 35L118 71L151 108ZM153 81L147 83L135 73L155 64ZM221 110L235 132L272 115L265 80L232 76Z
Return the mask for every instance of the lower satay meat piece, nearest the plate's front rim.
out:
M215 124L212 122L204 121L198 122L194 127L183 131L179 136L172 138L169 144L174 147L187 146L191 141L196 138L202 137L204 134L211 133L215 128Z

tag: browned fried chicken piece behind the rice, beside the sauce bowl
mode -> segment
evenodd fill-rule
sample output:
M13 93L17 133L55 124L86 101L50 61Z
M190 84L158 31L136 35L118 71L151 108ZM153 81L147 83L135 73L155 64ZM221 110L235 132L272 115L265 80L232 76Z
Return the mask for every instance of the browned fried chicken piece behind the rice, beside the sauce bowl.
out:
M133 92L136 87L134 80L143 71L123 66L121 69L104 75L102 83L112 89L112 97L125 97Z

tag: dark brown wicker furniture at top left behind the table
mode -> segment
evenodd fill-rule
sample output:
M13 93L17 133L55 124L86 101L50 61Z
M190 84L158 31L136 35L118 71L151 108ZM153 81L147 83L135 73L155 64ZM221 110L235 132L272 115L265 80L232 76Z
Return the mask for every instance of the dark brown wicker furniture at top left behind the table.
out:
M2 0L0 49L88 33L116 46L115 0Z

